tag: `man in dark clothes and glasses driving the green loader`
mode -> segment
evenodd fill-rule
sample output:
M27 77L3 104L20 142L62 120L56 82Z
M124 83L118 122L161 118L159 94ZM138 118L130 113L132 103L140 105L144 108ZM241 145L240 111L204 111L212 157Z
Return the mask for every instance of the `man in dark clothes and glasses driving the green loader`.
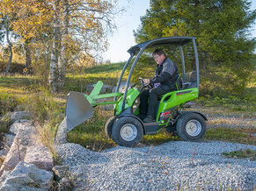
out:
M140 118L143 122L154 122L157 109L157 97L163 96L168 92L177 90L176 82L179 80L178 87L182 85L179 78L179 72L176 64L167 58L162 49L156 49L152 56L157 62L155 76L150 79L144 79L144 83L153 88L146 88L142 91L140 101ZM178 79L179 78L179 79ZM148 102L148 98L150 98Z

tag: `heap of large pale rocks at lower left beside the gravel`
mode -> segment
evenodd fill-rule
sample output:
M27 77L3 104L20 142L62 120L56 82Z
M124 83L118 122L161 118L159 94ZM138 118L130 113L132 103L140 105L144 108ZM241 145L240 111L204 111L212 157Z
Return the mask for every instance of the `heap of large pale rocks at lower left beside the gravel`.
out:
M53 156L40 142L36 126L22 119L28 115L31 114L20 111L11 114L12 119L18 120L11 125L11 134L4 136L7 154L1 155L4 162L0 168L0 190L48 190L52 183Z

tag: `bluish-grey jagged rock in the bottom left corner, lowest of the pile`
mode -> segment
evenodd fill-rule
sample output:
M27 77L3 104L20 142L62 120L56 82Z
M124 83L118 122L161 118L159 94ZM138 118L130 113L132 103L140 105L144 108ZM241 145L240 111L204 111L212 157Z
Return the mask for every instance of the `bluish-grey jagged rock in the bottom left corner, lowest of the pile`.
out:
M21 161L7 175L0 190L49 190L52 180L53 173Z

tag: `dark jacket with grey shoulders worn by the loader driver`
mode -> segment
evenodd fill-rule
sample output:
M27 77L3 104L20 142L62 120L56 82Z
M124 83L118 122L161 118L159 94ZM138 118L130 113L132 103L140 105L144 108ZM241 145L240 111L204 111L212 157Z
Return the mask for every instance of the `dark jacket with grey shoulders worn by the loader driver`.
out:
M165 90L173 88L176 89L176 81L179 77L177 65L167 57L156 68L156 75L150 79L150 84L160 83Z

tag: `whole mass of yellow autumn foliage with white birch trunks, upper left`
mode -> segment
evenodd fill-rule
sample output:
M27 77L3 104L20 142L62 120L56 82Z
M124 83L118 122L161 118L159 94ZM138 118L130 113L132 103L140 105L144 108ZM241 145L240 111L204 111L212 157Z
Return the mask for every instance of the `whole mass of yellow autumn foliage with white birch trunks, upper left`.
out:
M65 83L69 65L81 58L95 58L106 49L106 33L114 27L114 3L115 0L2 0L0 12L15 18L10 25L24 46L26 62L44 63L49 84L57 91Z

